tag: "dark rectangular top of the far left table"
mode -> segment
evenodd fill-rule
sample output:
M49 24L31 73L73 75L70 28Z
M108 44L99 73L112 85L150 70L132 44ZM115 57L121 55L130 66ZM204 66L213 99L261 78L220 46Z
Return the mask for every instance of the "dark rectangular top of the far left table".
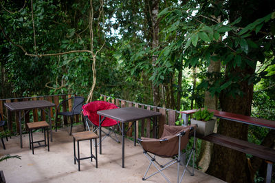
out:
M47 100L30 100L16 103L5 103L5 107L8 107L10 111L21 111L55 106L56 105L54 103L51 103Z

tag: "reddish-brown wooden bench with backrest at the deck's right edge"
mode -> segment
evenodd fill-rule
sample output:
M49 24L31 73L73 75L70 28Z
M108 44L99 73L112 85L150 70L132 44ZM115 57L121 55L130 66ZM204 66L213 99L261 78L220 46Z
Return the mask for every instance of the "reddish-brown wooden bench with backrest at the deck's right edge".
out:
M255 125L259 127L266 127L270 129L275 129L275 121L265 120L260 118L253 118L250 116L243 116L240 114L232 114L224 111L217 111L213 109L208 109L209 111L214 112L214 116L217 118L222 118L225 120L232 120L235 122L242 122L248 125ZM181 111L182 117L184 119L184 125L188 125L189 115L195 113L197 109ZM272 164L275 162L275 150L269 147L264 147L261 145L253 144L245 140L239 140L236 138L230 138L228 136L223 136L221 134L212 133L209 136L199 136L203 140L207 140L214 144L219 144L223 147L228 147L236 151L243 153L248 153L256 157L262 158L267 162L267 177L266 182L271 182L272 179Z

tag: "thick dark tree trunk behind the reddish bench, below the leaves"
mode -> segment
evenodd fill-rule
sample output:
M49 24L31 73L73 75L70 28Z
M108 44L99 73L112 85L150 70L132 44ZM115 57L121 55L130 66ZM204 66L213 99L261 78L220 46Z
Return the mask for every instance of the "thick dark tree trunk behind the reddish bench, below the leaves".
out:
M254 69L251 67L246 67L244 69L236 67L230 72L231 74L243 74L243 76L246 76L247 74L254 73ZM225 70L225 73L227 74L228 72ZM243 96L236 96L235 98L229 96L226 91L221 92L219 96L221 109L222 111L228 111L234 114L250 116L253 84L248 85L248 80L243 80L239 83L239 89L243 92ZM218 133L232 138L248 140L248 125L221 119L218 124ZM245 153L221 147L217 144L214 144L210 166L206 173L214 175L226 182L252 181L250 180Z

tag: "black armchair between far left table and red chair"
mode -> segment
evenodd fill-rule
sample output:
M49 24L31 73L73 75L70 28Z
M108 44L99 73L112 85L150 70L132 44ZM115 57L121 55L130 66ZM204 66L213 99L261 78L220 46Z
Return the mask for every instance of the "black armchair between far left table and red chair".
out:
M76 106L73 105L72 111L67 111L67 112L70 113L70 114L64 115L64 114L62 114L63 112L58 112L59 107L60 107L61 105L63 105L63 103L68 103L69 100L75 100L76 98L82 98L82 99L83 99L83 102L82 102L82 103L79 103L79 104L76 105ZM84 103L84 102L85 102L85 98L84 98L84 97L82 97L82 96L74 96L74 97L72 97L72 98L68 98L68 99L63 100L63 101L56 107L56 111L57 111L57 112L56 112L56 119L55 119L56 131L57 131L57 116L58 116L58 115L62 115L63 118L65 118L65 116L69 116L69 117L71 118L71 131L70 131L69 135L72 136L72 128L73 128L73 123L74 123L74 116L77 115L77 114L81 114L81 111L82 111L82 110L81 110L81 107L83 106L83 103ZM76 111L76 109L78 109L78 107L80 107L80 111ZM84 129L86 130L84 120L83 120L83 126L84 126Z

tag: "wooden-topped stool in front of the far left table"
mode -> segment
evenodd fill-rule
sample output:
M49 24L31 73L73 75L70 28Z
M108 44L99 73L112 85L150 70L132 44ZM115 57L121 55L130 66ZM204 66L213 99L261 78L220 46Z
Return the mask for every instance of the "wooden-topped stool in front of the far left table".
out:
M47 124L47 122L45 122L45 121L28 122L27 126L29 129L30 149L32 149L32 154L34 154L34 148L36 148L36 147L47 147L47 151L50 151L49 124ZM32 137L32 130L34 130L34 129L43 129L44 140L34 141L34 139ZM47 130L47 142L46 142L46 130ZM44 144L40 144L40 142L44 142ZM34 147L34 143L38 143L39 145Z

